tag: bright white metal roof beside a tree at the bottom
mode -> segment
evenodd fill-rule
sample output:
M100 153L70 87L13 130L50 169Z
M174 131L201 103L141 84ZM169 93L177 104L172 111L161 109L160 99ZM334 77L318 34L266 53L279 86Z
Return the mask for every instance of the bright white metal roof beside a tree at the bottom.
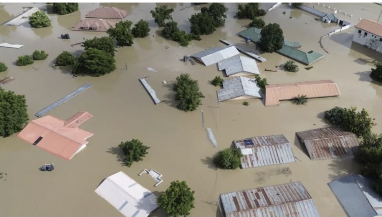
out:
M126 217L147 217L158 208L156 196L123 172L107 177L95 192Z

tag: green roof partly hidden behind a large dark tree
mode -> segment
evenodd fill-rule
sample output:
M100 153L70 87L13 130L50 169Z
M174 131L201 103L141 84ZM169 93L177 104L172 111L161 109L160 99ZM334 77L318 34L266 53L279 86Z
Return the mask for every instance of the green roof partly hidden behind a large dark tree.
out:
M249 37L250 40L253 42L259 42L261 38L260 32L261 29L251 27L241 31L240 33L238 33L238 35L243 38ZM299 44L298 42L290 42L284 39L284 46L276 52L288 56L291 59L295 59L305 65L311 65L312 63L323 57L322 54L317 53L313 50L309 52L298 50L301 47L301 44Z

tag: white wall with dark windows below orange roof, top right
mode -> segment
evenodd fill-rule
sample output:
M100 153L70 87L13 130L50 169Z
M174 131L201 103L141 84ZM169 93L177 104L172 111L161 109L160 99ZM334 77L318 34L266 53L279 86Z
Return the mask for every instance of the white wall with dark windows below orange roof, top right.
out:
M364 30L357 27L354 31L353 42L365 45L370 49L382 53L382 37L376 36L369 32L365 32Z

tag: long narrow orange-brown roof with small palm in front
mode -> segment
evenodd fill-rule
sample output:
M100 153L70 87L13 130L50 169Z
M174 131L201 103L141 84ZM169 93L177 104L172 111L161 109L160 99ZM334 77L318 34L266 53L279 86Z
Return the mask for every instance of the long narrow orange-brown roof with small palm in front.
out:
M298 95L320 98L341 94L337 84L331 80L271 84L265 86L265 106L280 105L281 100L292 100Z

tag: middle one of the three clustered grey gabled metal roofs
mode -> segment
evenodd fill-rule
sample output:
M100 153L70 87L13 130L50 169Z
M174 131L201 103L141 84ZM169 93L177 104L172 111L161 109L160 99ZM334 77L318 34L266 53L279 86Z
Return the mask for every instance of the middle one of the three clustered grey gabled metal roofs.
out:
M226 71L226 75L234 75L239 72L247 72L254 75L260 75L256 60L245 56L233 56L217 63L219 71Z

